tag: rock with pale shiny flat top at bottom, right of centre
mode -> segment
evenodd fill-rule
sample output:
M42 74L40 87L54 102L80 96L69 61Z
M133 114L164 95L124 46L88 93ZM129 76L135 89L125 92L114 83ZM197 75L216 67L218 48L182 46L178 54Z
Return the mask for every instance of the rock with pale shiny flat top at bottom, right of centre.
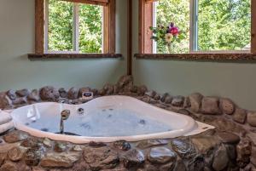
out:
M166 147L154 147L149 151L148 161L152 163L175 162L176 154Z

